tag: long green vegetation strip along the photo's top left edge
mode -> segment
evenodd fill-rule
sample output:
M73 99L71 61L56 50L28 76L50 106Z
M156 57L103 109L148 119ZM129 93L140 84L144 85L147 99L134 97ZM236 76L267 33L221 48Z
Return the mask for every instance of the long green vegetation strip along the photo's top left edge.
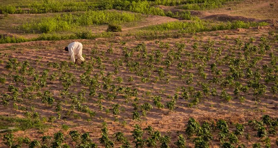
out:
M81 1L75 2L58 1L58 0L45 0L43 2L32 2L27 7L16 7L13 5L3 5L0 11L4 14L24 14L24 13L48 13L48 12L74 12L74 11L89 11L89 10L104 10L104 9L117 9L128 10L142 14L162 15L164 11L160 8L151 6L153 3L149 1L137 0L104 0L101 2ZM22 8L28 8L22 9Z

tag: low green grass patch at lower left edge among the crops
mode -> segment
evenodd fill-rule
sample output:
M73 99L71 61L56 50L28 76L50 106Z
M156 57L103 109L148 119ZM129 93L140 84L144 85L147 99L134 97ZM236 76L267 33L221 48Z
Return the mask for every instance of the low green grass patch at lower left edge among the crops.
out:
M17 117L4 117L0 115L0 129L7 129L8 127L16 127L17 130L27 129L44 129L47 125L44 125L40 119L30 118L17 118Z

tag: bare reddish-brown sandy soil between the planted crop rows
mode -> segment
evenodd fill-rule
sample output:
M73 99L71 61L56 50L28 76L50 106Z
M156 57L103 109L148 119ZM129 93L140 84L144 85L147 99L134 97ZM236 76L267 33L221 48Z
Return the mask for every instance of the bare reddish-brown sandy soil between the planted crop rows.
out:
M221 35L219 36L212 36L212 33L199 33L196 34L195 37L184 37L184 38L178 38L178 39L164 39L161 40L162 42L169 42L170 48L173 48L175 46L175 42L182 42L184 43L187 47L186 50L189 52L192 52L192 44L193 42L204 42L206 43L208 39L210 40L215 40L216 41L216 46L213 48L221 47L224 46L225 52L226 50L229 49L229 46L234 44L234 38L237 38L238 36L241 36L241 39L244 41L248 41L250 37L254 37L257 41L254 42L255 45L258 45L259 37L262 36L262 34L267 34L268 30L254 30L254 29L246 29L246 30L234 30L234 31L218 31L214 32L219 33ZM228 38L228 39L226 39ZM126 47L128 48L133 48L137 46L139 43L142 41L129 41L129 38L121 38L121 41L127 41L126 42ZM229 44L228 45L223 45L221 43L217 43L218 41L227 41ZM83 54L86 55L86 58L88 60L88 57L90 55L91 48L96 48L96 45L98 45L97 50L99 51L98 56L102 57L103 59L103 64L106 66L104 73L105 75L108 72L111 72L114 70L114 67L112 67L111 62L115 59L120 59L123 57L122 54L122 47L120 43L116 43L117 40L109 40L107 39L98 39L97 41L95 40L78 40L79 42L83 43ZM19 43L19 44L3 44L2 45L2 55L3 54L10 54L10 58L17 58L19 62L22 62L24 60L28 60L31 63L31 66L36 68L38 71L42 71L46 68L50 70L50 74L53 72L59 72L58 69L53 69L47 67L48 62L59 62L59 61L69 61L68 55L65 51L63 51L61 46L66 46L68 43L71 41L38 41L38 42L27 42L27 43ZM114 54L110 55L106 53L107 50L107 42L115 42L113 45L114 49ZM154 41L145 41L146 47L149 52L154 49L159 49L158 44L156 44ZM9 47L15 46L14 49L10 49ZM277 45L273 44L273 48L277 48ZM6 48L6 49L5 49ZM3 50L5 49L5 50ZM101 52L104 51L105 56L102 56ZM166 53L169 50L163 49L161 52L166 56ZM136 54L135 54L136 55ZM275 53L277 56L277 53ZM37 59L37 56L42 57L41 60L39 60L39 63L36 64L35 60ZM93 57L96 55L93 55ZM104 57L107 57L105 59ZM137 59L136 57L134 57ZM4 68L6 65L6 60L4 56L2 56L2 60L4 61L4 64L0 65L0 70L1 73L0 75L3 74L8 74L9 72ZM139 60L139 59L138 59ZM186 60L186 59L183 59ZM260 62L259 65L263 64L263 62L266 62L269 59L263 59L262 62ZM139 60L138 62L142 63L143 61ZM208 64L209 65L209 64ZM223 70L223 72L227 72L227 67L219 67ZM169 84L163 83L163 82L158 82L154 83L154 77L151 77L151 82L147 83L142 83L141 78L138 77L134 73L130 73L128 71L128 68L124 66L120 66L119 68L119 74L114 76L114 81L116 85L117 82L115 82L116 76L121 76L124 78L124 82L121 84L123 86L129 86L129 87L134 87L137 88L139 92L139 104L143 104L144 102L149 102L150 104L153 104L152 99L150 98L153 95L162 95L162 103L166 104L167 101L170 101L171 99L168 99L168 95L174 95L176 93L176 89L180 88L181 86L187 86L185 82L180 81L177 79L177 76L175 76L176 70L175 66L171 66L169 70L166 70L166 73L171 75L171 81ZM207 67L209 69L209 67ZM206 70L207 72L209 70ZM70 72L74 74L74 76L78 79L79 82L79 75L84 72L80 66L77 68L74 68L73 66L71 67ZM186 72L186 70L184 71ZM193 73L196 73L196 71L190 71ZM99 70L94 68L94 74L99 73ZM195 74L196 75L196 74ZM133 76L134 82L130 83L127 81L127 78L129 76ZM213 75L208 72L208 78L212 77ZM32 78L30 78L32 79ZM246 81L246 80L243 80ZM6 88L8 85L13 84L16 87L19 88L20 91L25 87L23 84L19 83L19 85L16 85L15 82L12 82L12 78L8 78L7 82L3 85L1 84L0 90L2 93L6 92ZM53 92L55 99L57 100L64 100L63 98L58 97L59 95L59 90L63 89L63 86L61 86L61 83L57 80L54 82L48 82L48 86L46 88L43 88L41 92L44 90L50 90ZM270 87L270 84L266 84L267 87ZM196 82L192 84L197 90L200 88L197 86ZM76 84L76 86L71 87L74 93L77 93L81 89L86 89L83 85L80 85L79 83ZM76 88L76 89L75 89ZM221 88L217 87L218 92L220 93ZM228 93L232 94L232 89L228 90ZM88 91L87 91L88 92ZM104 90L99 90L99 92L102 92L105 94ZM150 95L146 95L146 92L150 92ZM161 92L164 92L163 94ZM179 91L178 91L179 92ZM180 92L179 92L180 93ZM90 118L88 114L81 113L78 111L74 111L75 114L78 114L80 119L74 118L74 117L69 117L66 120L56 120L54 123L47 123L49 125L52 125L53 127L48 129L47 131L44 132L44 134L38 133L38 130L34 129L29 129L26 131L18 131L15 132L16 137L17 136L23 136L23 137L29 137L31 139L37 139L40 138L42 135L53 135L53 133L57 132L61 128L61 124L66 124L71 126L70 130L78 130L79 132L89 132L93 141L96 142L99 147L101 145L99 144L98 138L100 138L100 128L101 128L101 123L103 121L106 121L108 124L108 129L109 129L109 135L111 135L115 132L121 131L129 138L129 140L133 140L131 137L131 131L133 130L133 125L134 124L139 124L142 128L145 128L147 126L152 126L155 130L159 130L162 134L170 135L172 137L171 141L171 147L173 146L173 142L177 140L177 133L184 134L184 130L187 125L187 121L189 117L194 117L197 121L200 123L203 121L213 121L216 122L217 119L225 119L230 126L230 130L232 131L234 129L234 126L232 123L242 123L245 124L248 122L248 120L251 119L260 119L262 115L268 114L273 118L278 117L278 112L277 112L277 104L278 104L278 98L275 96L272 96L270 93L267 93L265 96L260 98L260 102L255 103L253 100L253 97L251 94L244 94L246 97L246 101L241 103L239 102L238 99L233 99L230 102L225 102L221 100L218 97L204 97L202 101L197 105L194 106L193 108L188 108L187 104L188 102L179 99L176 103L176 108L173 111L170 111L169 109L157 109L154 106L154 109L152 109L150 112L147 113L146 117L141 117L141 122L136 122L132 120L132 114L133 112L133 106L132 106L132 98L129 99L129 103L125 103L125 99L123 98L122 95L118 95L117 99L108 101L108 100L103 100L103 106L104 110L100 111L99 107L97 104L95 104L95 101L97 101L97 96L95 97L90 97L86 95L86 98L88 99L87 102L82 102L82 105L89 106L91 110L96 111L97 115L93 118ZM70 102L69 99L66 99L68 102ZM189 101L190 102L190 101ZM124 108L125 111L114 116L112 113L106 114L105 109L111 108L111 104L118 103L120 104L121 108ZM18 104L19 107L21 106ZM32 102L26 102L23 103L22 105L27 106L27 109L30 106L35 106L36 112L38 112L41 116L43 117L49 117L50 115L56 116L55 113L55 108L54 106L46 106L41 103L40 99L33 100ZM62 117L65 114L65 110L68 110L70 105L63 105L63 110L61 112ZM7 115L7 116L17 116L17 117L23 117L23 113L25 111L22 110L15 110L12 107L12 104L10 104L8 107L3 107L2 105L0 106L0 115ZM117 117L120 122L115 122L114 119ZM90 118L91 121L86 121L86 119ZM121 122L126 121L127 125L123 126ZM62 131L65 133L65 135L68 134L68 131ZM244 143L247 147L251 147L251 145L254 142L259 142L259 138L255 137L256 131L252 130L249 126L246 125L245 133L251 134L251 140L246 140L244 137L238 137L240 143ZM217 132L213 133L214 139L217 139ZM272 139L272 145L275 147L274 141L276 136L269 136ZM112 137L111 137L112 138ZM147 138L147 135L145 134L144 138ZM66 138L66 142L70 144L70 146L74 146L75 143L71 142L70 137ZM218 148L219 147L219 142L217 140L213 140L211 142L211 147ZM2 143L0 144L0 147L3 147ZM118 147L120 145L116 145ZM194 143L192 142L192 139L187 140L187 146L189 148L194 147Z

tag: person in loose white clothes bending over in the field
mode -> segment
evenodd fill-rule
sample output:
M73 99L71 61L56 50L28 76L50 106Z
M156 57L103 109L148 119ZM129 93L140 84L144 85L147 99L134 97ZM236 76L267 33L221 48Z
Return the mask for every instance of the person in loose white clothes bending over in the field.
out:
M65 47L65 51L69 51L71 61L74 64L77 63L78 59L84 61L85 59L82 57L82 44L80 42L72 42L67 47Z

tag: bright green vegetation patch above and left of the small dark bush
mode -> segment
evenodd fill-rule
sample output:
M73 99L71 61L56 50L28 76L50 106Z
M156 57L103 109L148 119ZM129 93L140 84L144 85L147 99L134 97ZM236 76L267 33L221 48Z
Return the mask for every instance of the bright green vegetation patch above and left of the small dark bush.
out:
M31 32L40 31L50 33L54 31L72 30L77 26L103 25L109 23L133 22L141 19L140 14L118 11L87 11L85 13L61 14L55 17L42 18L39 23L26 22L20 26L21 30Z

